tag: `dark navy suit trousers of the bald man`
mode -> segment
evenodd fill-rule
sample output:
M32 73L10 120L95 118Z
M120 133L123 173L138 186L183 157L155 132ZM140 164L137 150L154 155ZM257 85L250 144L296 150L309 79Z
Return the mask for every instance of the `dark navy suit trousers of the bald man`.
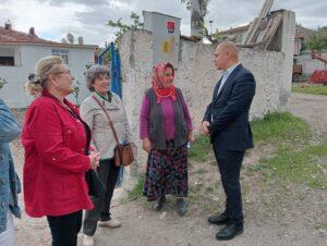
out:
M231 223L243 224L240 171L245 150L223 150L214 145L214 151L226 194L225 213Z

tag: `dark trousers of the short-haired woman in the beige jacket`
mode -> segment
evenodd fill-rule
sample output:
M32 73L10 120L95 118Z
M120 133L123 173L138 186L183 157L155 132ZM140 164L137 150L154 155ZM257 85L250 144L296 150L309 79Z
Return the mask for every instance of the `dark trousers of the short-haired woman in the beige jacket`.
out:
M110 204L119 174L119 167L114 165L113 160L100 161L97 170L99 177L106 186L106 194L104 197L90 197L94 209L86 210L83 222L83 233L93 236L97 229L98 220L110 220Z

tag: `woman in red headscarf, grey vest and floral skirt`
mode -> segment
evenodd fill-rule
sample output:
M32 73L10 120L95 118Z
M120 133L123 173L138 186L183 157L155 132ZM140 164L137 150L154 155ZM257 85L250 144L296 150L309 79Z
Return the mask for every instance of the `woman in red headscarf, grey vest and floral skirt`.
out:
M160 210L166 195L177 197L177 212L187 211L187 142L194 142L192 120L182 91L173 85L170 63L154 67L153 87L143 98L140 135L148 152L143 194Z

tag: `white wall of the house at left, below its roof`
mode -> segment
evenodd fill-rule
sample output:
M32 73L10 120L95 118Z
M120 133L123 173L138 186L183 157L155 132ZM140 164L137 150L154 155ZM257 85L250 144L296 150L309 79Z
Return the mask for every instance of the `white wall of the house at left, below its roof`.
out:
M1 47L3 48L4 46ZM8 82L8 84L0 89L0 97L11 108L25 108L33 100L33 97L26 95L23 89L28 73L34 72L35 64L40 58L52 54L52 47L16 46L14 48L20 53L21 65L0 66L0 76ZM68 66L75 78L81 83L78 97L81 102L88 94L84 83L83 72L86 70L86 64L94 63L94 50L70 48L69 53L70 64ZM75 98L72 95L69 99L75 102Z

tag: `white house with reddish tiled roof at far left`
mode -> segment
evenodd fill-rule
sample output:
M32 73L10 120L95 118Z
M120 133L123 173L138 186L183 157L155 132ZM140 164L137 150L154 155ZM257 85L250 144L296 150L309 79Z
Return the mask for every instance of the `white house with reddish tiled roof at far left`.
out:
M81 38L78 44L46 40L36 35L34 27L31 27L28 33L23 33L13 29L11 23L5 23L4 26L0 26L0 77L4 78L7 84L0 89L0 98L11 108L27 107L33 100L24 91L28 74L34 72L39 59L59 56L78 81L81 102L88 94L83 73L87 65L95 63L97 48L84 45ZM76 102L74 96L71 95L70 99Z

